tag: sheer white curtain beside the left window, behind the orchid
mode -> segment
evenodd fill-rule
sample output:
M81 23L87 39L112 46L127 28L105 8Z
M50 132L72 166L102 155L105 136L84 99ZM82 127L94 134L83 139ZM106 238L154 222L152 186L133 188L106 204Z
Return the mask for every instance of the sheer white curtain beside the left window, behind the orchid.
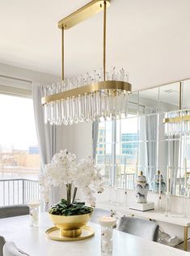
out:
M64 129L62 126L51 126L44 124L44 109L41 105L43 86L32 84L32 98L36 122L36 133L40 148L41 169L44 171L44 164L49 164L55 153L63 148ZM62 188L53 188L49 204L57 203L63 197Z

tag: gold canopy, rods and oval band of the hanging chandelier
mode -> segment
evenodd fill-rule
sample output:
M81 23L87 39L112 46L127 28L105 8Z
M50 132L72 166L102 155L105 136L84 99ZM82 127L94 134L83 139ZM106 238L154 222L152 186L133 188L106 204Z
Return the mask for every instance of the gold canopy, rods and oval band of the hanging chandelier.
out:
M87 5L82 6L82 8L74 11L74 13L61 19L58 22L58 28L61 29L61 57L62 57L62 68L61 77L64 80L64 32L82 22L83 20L91 17L103 11L103 81L99 83L92 83L82 87L76 87L65 92L59 92L51 96L44 96L41 99L41 104L46 105L50 102L55 102L57 100L66 100L72 97L88 95L91 92L101 92L102 90L112 91L114 96L114 90L121 90L124 92L131 92L132 86L128 82L116 81L116 80L106 80L106 16L107 7L110 6L110 0L93 0Z

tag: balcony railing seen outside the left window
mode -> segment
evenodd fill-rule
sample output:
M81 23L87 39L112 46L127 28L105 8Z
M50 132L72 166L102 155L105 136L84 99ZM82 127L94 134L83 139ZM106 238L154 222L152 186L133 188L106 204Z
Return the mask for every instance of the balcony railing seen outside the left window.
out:
M38 181L29 179L0 180L0 206L25 204L40 198Z

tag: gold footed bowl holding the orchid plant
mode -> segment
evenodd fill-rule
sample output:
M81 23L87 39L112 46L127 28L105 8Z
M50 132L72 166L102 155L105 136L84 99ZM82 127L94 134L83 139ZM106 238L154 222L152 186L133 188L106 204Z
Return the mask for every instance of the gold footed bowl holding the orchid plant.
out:
M60 229L60 235L64 237L78 237L82 233L82 227L91 220L91 213L82 215L53 215L49 213L49 217L53 224Z

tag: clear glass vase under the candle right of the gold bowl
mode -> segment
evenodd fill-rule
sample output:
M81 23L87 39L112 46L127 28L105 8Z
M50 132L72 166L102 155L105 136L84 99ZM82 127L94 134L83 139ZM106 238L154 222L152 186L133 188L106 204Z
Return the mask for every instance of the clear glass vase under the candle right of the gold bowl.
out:
M112 227L101 227L101 252L112 255Z

